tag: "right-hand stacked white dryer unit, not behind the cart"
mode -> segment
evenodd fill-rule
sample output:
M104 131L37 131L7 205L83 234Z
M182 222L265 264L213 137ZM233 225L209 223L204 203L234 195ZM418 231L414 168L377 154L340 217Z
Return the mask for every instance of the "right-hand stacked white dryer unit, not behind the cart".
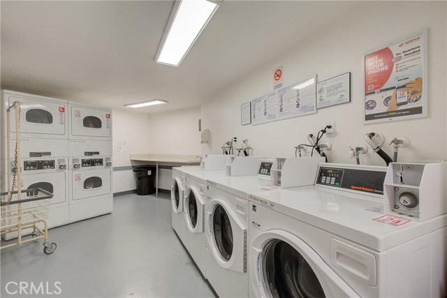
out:
M68 103L70 222L113 210L112 112Z

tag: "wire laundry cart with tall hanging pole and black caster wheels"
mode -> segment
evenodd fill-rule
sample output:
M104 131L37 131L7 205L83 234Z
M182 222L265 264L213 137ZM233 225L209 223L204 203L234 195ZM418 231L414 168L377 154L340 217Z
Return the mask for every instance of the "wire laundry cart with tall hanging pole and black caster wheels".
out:
M57 245L48 241L47 222L50 199L52 193L48 193L41 188L22 190L20 179L20 108L21 103L15 101L6 110L7 127L7 156L8 164L8 191L0 193L0 234L17 232L17 241L13 244L0 246L0 249L10 246L22 245L29 241L44 239L43 253L49 255L53 253ZM15 110L15 154L13 165L10 158L10 112ZM11 181L12 178L12 181ZM12 183L11 183L12 182ZM17 191L15 187L17 184ZM41 225L43 224L43 228ZM24 230L33 229L30 237L23 239Z

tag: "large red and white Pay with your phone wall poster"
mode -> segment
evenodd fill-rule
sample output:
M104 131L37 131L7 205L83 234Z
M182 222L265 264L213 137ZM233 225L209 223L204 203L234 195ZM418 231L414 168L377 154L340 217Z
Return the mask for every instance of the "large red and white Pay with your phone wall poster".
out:
M427 116L427 30L363 57L365 123Z

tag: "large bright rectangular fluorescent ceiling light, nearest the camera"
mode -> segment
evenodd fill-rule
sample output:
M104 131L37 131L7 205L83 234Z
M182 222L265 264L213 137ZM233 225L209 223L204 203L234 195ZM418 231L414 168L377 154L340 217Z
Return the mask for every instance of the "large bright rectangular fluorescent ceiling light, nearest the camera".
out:
M218 7L207 0L175 1L156 62L179 66Z

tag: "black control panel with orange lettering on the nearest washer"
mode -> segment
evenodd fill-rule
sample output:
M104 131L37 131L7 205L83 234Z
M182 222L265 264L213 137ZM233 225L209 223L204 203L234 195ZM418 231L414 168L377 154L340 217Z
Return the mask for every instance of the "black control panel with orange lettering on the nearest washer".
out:
M386 169L386 168L385 168ZM381 170L320 166L315 184L383 195L386 172Z

